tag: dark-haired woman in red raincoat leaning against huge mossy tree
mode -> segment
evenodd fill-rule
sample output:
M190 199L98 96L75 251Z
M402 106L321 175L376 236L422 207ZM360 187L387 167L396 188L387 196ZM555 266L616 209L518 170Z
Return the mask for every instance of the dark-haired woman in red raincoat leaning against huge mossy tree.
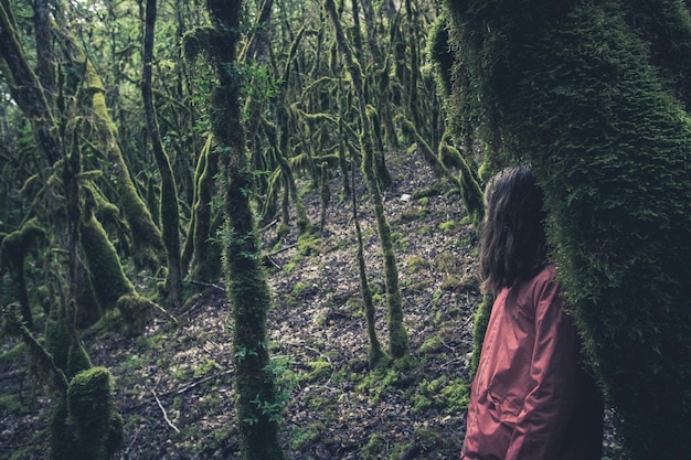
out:
M495 176L480 243L495 297L471 387L463 460L600 460L603 403L548 263L542 193L528 167Z

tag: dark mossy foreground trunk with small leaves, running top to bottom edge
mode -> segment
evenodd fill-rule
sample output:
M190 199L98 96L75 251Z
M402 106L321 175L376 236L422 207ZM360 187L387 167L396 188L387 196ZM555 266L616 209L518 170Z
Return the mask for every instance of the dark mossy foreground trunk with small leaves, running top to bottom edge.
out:
M245 460L283 459L278 442L281 405L269 364L266 314L272 298L249 205L252 171L240 113L241 0L208 0L214 40L208 43L215 65L211 124L219 145L225 208L223 260L233 304L236 409L241 454Z

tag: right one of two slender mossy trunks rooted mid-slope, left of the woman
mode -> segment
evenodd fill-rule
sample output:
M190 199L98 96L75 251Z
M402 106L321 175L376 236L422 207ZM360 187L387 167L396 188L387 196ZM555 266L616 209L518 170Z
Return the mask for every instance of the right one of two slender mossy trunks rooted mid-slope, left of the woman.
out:
M366 113L366 100L364 95L364 83L360 64L353 58L350 45L346 40L346 34L336 11L333 0L325 0L325 8L329 14L336 31L336 40L344 57L348 73L353 82L360 111L360 150L362 154L362 169L368 182L368 189L372 195L374 215L376 216L376 227L379 231L382 255L384 258L384 277L386 285L386 301L389 303L389 352L392 359L401 359L410 353L408 338L403 324L403 300L398 287L398 268L396 266L396 255L393 250L391 238L391 227L384 215L384 201L379 189L379 179L374 172L374 146L372 143L372 130Z

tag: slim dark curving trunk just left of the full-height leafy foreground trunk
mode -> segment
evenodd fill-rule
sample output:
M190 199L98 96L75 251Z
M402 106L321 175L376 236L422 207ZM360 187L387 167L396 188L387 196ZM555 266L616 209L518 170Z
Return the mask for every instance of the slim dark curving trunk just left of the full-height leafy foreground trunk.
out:
M158 129L153 94L151 89L151 65L153 61L153 31L156 29L156 0L147 0L146 26L142 53L141 95L143 98L147 130L151 138L153 157L161 174L161 236L166 247L168 274L166 275L166 295L168 303L176 308L182 302L182 266L180 261L180 208L178 205L178 188L170 167L168 154L163 150L161 135Z

